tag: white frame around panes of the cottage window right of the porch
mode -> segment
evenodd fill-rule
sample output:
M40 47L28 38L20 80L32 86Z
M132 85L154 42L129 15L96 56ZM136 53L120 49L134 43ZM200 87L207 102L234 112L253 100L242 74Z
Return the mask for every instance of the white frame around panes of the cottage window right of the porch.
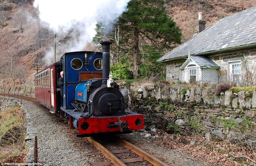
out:
M238 68L233 68L233 65L239 65L240 71L238 71ZM234 70L237 70L237 71L234 71ZM234 76L236 77L235 79L234 79ZM242 76L242 61L241 60L228 61L228 77L229 77L228 80L238 84L239 81L241 80L241 76Z

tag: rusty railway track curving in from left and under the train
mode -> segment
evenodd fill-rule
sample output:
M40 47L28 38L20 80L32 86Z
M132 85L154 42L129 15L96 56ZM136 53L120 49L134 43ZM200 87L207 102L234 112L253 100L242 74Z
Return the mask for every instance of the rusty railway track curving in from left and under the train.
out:
M38 103L38 101L31 96L6 94L6 93L0 93L0 95L9 96L17 99L29 100L29 101ZM57 116L55 117L57 118ZM67 133L69 132L71 133L72 130L69 129ZM142 150L141 148L134 146L134 144L126 140L123 140L120 137L113 136L113 135L109 137L105 135L103 138L104 139L102 140L102 137L86 137L83 140L78 140L78 142L74 142L74 143L81 143L83 141L87 141L93 144L93 146L99 151L101 151L101 153L111 162L111 163L98 162L98 163L93 163L93 165L111 165L111 164L114 164L114 165L138 165L138 164L139 165L168 165L162 162L161 160L159 160L158 158L156 158L155 156L148 154L145 150ZM106 140L110 142L110 145L109 144L106 145ZM113 146L113 144L115 143L118 143L119 146ZM126 156L126 157L123 157L123 156ZM129 156L135 156L135 157L130 158Z

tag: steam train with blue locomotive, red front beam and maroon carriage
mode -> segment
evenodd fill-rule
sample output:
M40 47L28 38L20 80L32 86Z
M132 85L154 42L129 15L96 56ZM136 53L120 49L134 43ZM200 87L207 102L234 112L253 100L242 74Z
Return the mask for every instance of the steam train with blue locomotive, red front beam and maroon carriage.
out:
M78 136L130 133L143 129L142 114L129 112L119 85L110 72L110 42L101 52L68 52L61 60L35 75L36 98L50 112L66 116ZM58 79L64 72L63 95Z

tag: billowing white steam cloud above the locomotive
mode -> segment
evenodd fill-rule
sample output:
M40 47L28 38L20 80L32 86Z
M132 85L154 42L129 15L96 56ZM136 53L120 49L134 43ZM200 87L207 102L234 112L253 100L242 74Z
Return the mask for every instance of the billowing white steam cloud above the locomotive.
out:
M103 26L103 33L113 29L120 15L127 10L130 0L35 0L40 19L48 23L57 34L57 41L71 36L68 45L57 45L57 52L81 51L96 34L96 23ZM48 56L50 53L47 53ZM52 52L53 54L53 52ZM60 57L60 56L59 56ZM48 59L48 57L45 57Z

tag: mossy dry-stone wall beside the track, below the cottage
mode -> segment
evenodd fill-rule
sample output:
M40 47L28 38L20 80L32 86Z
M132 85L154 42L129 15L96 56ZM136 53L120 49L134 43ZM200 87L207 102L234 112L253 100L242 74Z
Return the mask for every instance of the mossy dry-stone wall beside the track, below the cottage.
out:
M165 83L131 86L130 107L145 115L147 128L202 134L206 139L255 143L256 91L216 93L211 88L181 88ZM127 96L127 95L125 95Z

